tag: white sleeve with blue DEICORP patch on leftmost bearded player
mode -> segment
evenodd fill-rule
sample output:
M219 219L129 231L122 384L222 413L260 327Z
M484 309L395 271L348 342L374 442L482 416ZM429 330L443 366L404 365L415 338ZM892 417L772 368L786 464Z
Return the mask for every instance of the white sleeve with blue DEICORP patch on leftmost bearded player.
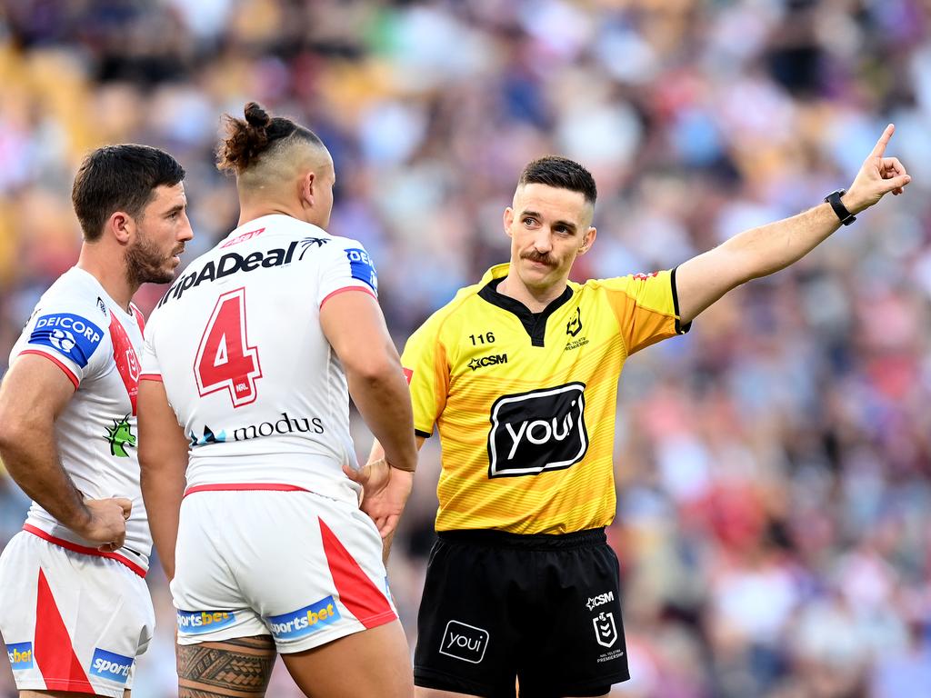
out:
M22 330L10 360L24 354L45 356L76 390L106 365L109 342L103 329L108 319L105 312L79 299L40 305Z

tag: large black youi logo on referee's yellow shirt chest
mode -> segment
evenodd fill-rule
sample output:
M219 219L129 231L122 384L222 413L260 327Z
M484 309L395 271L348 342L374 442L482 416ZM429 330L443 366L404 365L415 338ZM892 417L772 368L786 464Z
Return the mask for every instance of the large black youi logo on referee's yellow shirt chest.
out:
M488 477L561 470L588 450L585 383L501 396L490 419Z

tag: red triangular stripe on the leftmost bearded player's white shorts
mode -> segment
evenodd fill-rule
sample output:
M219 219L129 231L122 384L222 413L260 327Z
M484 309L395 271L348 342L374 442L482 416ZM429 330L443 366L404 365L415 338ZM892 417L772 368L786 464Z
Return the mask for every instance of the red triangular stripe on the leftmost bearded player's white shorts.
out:
M61 612L45 572L39 570L39 584L35 595L35 664L38 664L47 691L78 691L95 693L94 687L77 661L68 628L61 620Z

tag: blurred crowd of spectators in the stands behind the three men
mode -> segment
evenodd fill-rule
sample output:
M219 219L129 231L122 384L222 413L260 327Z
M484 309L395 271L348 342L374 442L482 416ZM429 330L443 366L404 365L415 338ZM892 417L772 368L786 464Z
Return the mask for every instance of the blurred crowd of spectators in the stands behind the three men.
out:
M0 373L76 260L82 155L178 157L191 260L236 225L213 149L246 101L329 146L331 233L371 252L399 348L506 261L501 214L534 157L598 181L584 280L816 205L894 122L903 196L627 364L609 536L633 678L613 695L931 695L927 0L5 0L0 85ZM434 441L389 562L412 642ZM0 545L27 505L2 472ZM173 611L157 565L149 581L160 627L133 695L166 698ZM279 663L269 695L295 691Z

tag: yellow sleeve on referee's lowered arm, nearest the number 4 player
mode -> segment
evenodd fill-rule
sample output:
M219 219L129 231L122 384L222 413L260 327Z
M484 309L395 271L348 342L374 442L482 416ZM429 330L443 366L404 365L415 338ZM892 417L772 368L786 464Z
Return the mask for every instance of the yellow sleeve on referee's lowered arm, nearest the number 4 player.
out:
M431 436L433 425L446 407L450 365L439 337L441 320L432 315L404 345L401 366L411 385L413 427L418 436Z

